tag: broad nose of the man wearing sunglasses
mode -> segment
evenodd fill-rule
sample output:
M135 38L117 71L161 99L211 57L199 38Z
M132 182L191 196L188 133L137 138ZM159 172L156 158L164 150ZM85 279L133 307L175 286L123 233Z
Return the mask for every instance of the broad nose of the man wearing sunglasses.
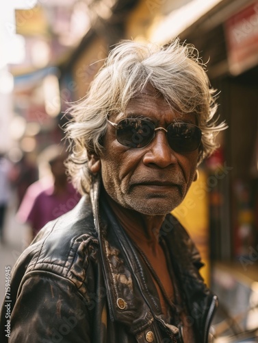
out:
M145 165L157 165L160 168L166 168L168 165L177 163L175 152L168 145L166 132L157 130L153 141L146 147L146 154L143 158Z

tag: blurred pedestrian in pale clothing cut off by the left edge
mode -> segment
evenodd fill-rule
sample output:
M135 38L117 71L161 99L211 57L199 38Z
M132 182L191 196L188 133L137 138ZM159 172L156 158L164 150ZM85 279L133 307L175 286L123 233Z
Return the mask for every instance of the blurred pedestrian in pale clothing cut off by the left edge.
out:
M8 209L8 202L11 195L11 187L9 180L11 164L5 154L0 152L0 241L4 242L3 239L3 226L5 223L5 214Z

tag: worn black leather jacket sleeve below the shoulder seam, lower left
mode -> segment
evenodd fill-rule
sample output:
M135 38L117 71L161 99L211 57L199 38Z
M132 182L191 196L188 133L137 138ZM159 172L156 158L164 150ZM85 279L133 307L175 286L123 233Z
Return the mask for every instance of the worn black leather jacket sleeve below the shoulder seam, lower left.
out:
M9 342L90 342L89 320L71 281L51 272L31 272L12 311Z

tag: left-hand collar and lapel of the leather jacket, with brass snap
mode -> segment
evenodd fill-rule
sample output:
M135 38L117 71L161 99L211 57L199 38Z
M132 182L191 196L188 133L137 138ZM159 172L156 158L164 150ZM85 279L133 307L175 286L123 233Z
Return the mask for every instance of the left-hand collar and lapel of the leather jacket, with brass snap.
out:
M125 324L131 333L137 334L151 325L153 315L133 277L135 265L128 265L130 261L135 263L136 260L126 256L125 252L129 247L125 248L124 237L118 232L118 224L113 216L111 219L108 206L101 208L100 191L101 178L93 176L90 200L94 225L99 236L110 315L113 320Z

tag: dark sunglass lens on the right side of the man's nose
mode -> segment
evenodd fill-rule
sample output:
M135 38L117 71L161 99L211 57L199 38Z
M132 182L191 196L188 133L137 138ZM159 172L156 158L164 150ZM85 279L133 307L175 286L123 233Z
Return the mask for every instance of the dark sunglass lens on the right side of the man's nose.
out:
M175 152L192 152L201 143L201 130L188 123L174 123L168 126L168 143Z

